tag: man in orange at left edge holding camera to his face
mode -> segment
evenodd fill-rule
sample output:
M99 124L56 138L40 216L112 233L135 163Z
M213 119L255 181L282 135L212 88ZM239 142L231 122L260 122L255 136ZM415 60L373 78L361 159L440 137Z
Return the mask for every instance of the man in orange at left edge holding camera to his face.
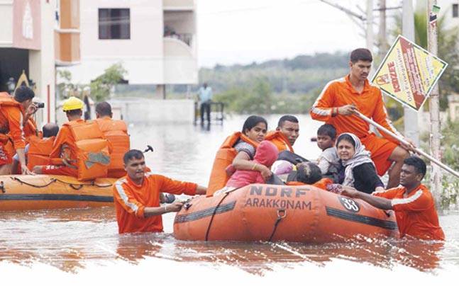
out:
M13 153L8 151L6 145L9 141L18 154L21 163L21 173L32 174L26 165L26 139L24 135L23 122L36 112L37 108L32 100L35 93L28 86L16 88L14 97L3 93L0 96L0 175L11 173L11 162Z

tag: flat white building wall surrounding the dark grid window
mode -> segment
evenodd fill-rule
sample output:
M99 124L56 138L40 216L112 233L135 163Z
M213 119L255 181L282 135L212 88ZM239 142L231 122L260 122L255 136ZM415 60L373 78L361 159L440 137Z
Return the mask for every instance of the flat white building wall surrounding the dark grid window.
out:
M161 84L162 1L80 1L81 64L66 69L87 84L111 64L121 62L131 84ZM99 40L99 8L130 8L131 39Z

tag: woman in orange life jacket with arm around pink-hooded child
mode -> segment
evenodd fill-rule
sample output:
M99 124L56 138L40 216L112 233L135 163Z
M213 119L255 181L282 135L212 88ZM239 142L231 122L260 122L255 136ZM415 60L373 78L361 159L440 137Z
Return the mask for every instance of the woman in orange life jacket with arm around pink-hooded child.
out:
M226 168L230 165L234 170L259 171L263 178L270 178L271 171L266 166L258 164L255 170L252 169L255 149L265 139L266 130L265 118L251 115L245 120L242 132L235 132L225 139L217 151L214 166L212 166L206 193L208 197L226 185L231 176L226 172Z

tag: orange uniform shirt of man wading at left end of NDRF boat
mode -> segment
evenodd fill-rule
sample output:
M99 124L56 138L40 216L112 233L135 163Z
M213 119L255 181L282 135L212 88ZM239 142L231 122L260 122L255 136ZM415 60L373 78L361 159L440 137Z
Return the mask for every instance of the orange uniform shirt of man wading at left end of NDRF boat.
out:
M162 217L144 217L145 207L159 207L160 193L196 195L197 184L146 173L142 185L129 176L113 186L118 232L162 232Z

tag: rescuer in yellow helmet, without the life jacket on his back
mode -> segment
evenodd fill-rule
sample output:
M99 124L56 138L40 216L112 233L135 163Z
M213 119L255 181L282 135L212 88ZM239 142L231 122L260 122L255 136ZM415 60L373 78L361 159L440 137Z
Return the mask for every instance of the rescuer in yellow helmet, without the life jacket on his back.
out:
M62 105L62 110L67 115L69 122L75 125L86 125L87 122L82 120L83 101L71 96ZM34 166L33 171L40 174L78 176L78 170L75 162L77 161L76 140L70 129L70 125L64 124L57 133L57 137L52 144L50 154L51 165Z

